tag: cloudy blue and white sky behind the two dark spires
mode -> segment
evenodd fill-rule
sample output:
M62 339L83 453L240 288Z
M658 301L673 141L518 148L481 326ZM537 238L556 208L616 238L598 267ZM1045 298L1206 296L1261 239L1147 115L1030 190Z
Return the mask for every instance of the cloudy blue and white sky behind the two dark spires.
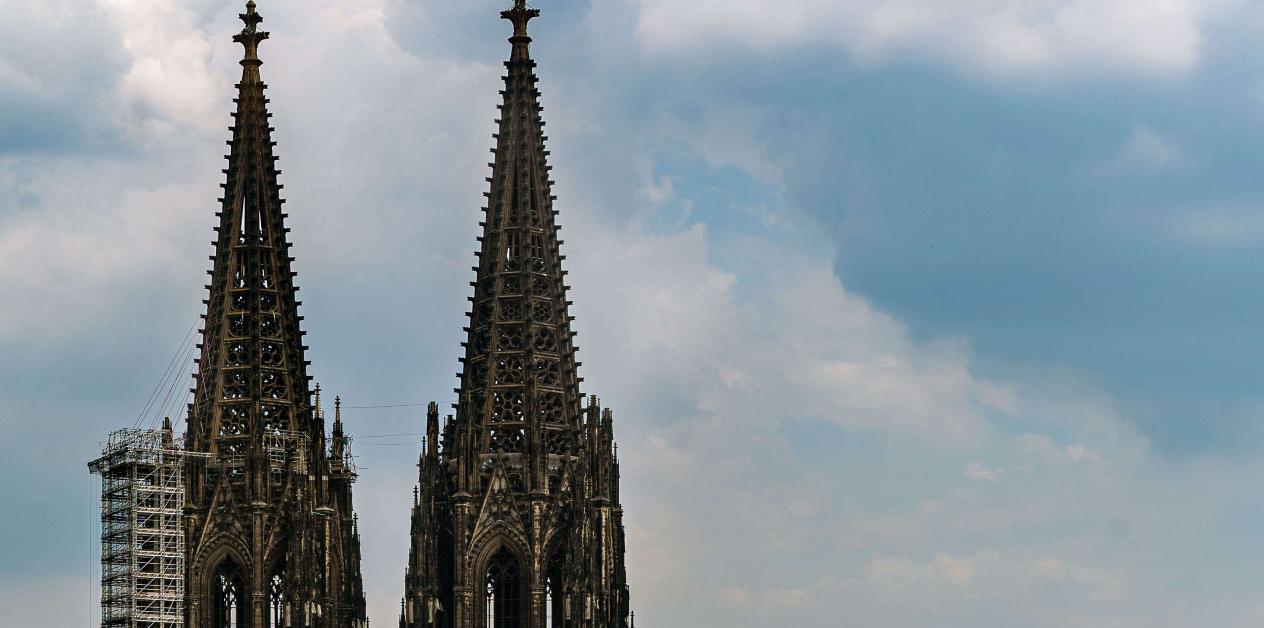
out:
M507 3L259 4L311 373L389 625ZM1264 6L535 4L641 625L1264 623ZM6 625L95 620L86 462L191 384L239 11L4 3Z

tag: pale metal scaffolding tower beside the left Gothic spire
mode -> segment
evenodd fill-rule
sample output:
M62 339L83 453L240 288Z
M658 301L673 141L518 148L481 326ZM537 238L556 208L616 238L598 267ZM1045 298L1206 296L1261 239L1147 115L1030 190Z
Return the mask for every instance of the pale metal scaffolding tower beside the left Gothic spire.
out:
M101 627L185 624L185 459L171 430L120 430L101 476Z

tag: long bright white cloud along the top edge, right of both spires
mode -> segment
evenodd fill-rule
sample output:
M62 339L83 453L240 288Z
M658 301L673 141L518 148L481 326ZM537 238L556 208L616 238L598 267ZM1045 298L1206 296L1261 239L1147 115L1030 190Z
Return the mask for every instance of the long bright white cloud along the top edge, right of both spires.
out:
M1234 1L633 0L655 53L700 47L838 47L862 59L916 54L975 72L1188 71L1203 24Z

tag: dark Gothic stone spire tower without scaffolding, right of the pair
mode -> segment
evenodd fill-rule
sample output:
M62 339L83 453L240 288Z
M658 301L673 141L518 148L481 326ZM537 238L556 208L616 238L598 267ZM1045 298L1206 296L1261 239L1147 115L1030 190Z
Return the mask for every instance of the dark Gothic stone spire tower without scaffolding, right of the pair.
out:
M579 392L523 0L455 417L431 403L401 628L628 625L614 421Z

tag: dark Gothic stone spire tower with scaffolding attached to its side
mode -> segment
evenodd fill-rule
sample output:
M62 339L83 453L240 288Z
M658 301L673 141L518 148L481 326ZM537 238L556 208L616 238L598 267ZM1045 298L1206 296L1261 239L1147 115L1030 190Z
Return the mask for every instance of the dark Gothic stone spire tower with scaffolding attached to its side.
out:
M188 409L186 625L365 625L341 408L312 404L254 1Z

